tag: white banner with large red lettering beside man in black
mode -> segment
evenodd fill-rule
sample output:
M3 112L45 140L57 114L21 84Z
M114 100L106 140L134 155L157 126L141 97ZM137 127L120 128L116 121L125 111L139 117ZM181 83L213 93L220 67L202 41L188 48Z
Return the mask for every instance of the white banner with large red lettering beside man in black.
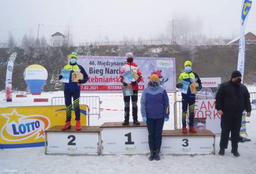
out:
M205 99L205 100L195 100L195 119L204 120L202 122L209 131L212 133L221 133L221 115L217 113L215 109L215 100L214 99Z

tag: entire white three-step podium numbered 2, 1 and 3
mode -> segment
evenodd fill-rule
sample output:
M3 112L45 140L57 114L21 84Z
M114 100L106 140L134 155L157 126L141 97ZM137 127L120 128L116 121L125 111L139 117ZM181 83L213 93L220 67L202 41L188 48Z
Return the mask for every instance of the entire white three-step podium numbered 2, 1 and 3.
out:
M54 126L45 131L45 154L115 155L148 154L148 131L145 122L123 126L122 122L106 122L101 126L82 126L81 131L61 131ZM182 133L163 130L162 154L215 154L215 135L203 130Z

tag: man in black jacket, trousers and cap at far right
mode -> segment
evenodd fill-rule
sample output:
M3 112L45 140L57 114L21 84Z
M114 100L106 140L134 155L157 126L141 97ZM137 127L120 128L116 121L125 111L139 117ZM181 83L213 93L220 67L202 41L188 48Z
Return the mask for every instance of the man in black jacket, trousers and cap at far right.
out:
M246 86L241 84L241 76L239 71L233 71L230 81L221 84L216 94L216 109L221 115L222 129L219 155L225 154L231 131L231 152L236 157L240 156L237 148L243 111L246 110L247 117L251 115L250 93Z

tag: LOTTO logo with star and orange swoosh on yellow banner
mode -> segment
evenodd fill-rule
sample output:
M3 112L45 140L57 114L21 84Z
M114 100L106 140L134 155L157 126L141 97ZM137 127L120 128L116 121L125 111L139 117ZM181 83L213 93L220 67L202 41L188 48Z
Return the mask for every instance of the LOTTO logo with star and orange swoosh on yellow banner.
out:
M30 137L34 137L34 140L44 138L44 132L50 124L44 115L21 115L16 109L1 116L7 119L1 129L1 137L9 142L18 142Z

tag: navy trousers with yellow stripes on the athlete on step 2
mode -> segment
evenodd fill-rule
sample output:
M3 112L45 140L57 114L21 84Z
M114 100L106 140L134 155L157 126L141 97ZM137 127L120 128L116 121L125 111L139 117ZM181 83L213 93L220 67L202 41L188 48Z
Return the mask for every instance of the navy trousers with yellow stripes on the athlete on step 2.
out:
M73 97L73 108L76 114L76 120L80 120L80 89L66 89L64 90L65 105L66 105L66 122L71 120L72 112L72 97Z

